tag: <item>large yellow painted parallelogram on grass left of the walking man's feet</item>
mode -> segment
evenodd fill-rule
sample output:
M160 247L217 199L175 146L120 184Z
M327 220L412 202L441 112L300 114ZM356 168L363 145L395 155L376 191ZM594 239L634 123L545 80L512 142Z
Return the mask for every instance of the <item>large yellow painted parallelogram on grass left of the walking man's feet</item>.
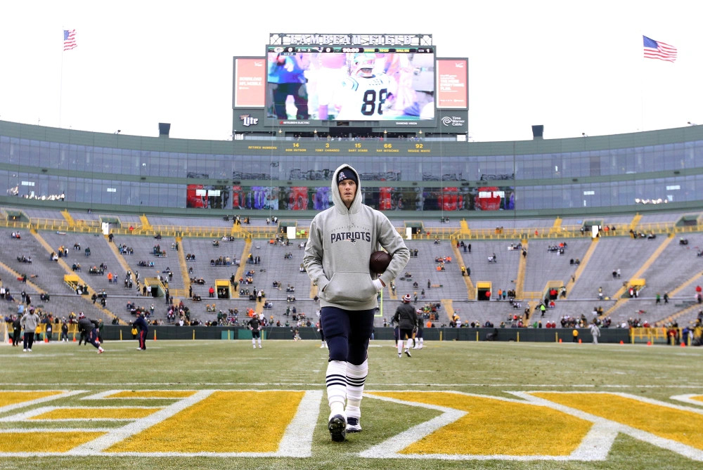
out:
M276 452L302 391L217 391L105 452Z

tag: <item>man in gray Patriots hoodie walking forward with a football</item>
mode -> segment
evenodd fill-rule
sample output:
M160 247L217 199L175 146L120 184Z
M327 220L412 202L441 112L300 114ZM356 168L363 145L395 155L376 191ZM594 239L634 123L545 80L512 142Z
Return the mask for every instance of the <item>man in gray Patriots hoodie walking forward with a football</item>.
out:
M347 164L337 168L331 190L334 205L313 219L303 263L319 289L320 324L329 348L328 429L332 440L341 442L347 432L361 431L361 395L378 292L405 267L410 251L384 214L361 203L355 169ZM370 272L369 258L380 247L392 259L378 277Z

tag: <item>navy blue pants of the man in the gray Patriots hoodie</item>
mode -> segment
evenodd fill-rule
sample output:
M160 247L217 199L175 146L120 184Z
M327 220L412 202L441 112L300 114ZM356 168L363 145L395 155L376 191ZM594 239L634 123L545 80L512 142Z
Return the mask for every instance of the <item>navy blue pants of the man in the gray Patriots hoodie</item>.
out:
M342 310L323 307L320 325L330 350L330 360L344 360L361 365L366 360L368 340L373 330L373 313L370 310Z

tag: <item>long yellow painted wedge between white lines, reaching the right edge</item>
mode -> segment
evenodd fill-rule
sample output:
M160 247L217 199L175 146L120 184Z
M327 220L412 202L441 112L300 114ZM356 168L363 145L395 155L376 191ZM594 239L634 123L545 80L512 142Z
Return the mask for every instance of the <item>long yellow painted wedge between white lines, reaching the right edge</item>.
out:
M700 414L612 393L533 392L531 395L703 450Z

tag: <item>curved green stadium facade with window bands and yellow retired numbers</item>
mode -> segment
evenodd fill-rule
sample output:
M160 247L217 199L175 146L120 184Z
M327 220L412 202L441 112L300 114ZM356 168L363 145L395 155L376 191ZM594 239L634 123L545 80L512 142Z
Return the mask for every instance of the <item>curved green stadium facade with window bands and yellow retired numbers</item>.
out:
M536 218L703 206L703 126L612 136L202 141L0 122L0 204L311 218L342 162L390 218Z

